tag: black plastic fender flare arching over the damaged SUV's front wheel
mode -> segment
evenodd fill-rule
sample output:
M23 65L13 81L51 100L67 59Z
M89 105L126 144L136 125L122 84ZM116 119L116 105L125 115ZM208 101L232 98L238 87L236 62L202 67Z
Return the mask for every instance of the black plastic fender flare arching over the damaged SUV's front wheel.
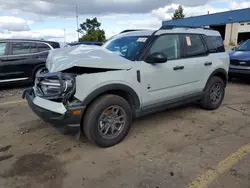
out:
M92 91L82 102L83 106L88 106L96 97L109 92L119 90L128 93L132 97L132 101L134 104L134 107L136 109L140 108L140 99L137 95L137 93L129 86L124 84L108 84L105 86L102 86L94 91Z

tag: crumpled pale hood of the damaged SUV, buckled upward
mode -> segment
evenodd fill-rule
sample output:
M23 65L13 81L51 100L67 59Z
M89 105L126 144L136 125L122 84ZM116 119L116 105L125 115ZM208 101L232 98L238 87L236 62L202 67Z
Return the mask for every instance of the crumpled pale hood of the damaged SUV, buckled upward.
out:
M73 46L51 50L46 67L50 72L59 72L71 67L128 70L132 63L103 47Z

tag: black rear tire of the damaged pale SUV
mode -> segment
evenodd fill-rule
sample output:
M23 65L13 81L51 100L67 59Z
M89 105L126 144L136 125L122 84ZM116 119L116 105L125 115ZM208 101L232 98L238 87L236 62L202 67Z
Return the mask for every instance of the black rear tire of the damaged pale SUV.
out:
M213 102L211 99L211 92L213 90L213 87L217 85L219 85L221 88L220 89L221 97L218 99L218 101ZM219 106L221 105L224 96L225 96L225 83L220 77L214 76L208 81L208 84L204 90L204 96L201 100L201 107L206 110L215 110L219 108Z

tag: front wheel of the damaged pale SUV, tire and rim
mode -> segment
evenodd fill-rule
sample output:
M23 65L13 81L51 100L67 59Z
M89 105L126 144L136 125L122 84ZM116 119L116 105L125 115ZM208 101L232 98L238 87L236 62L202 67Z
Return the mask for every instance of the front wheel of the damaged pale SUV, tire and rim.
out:
M117 95L103 95L87 109L83 130L87 138L100 147L121 142L130 129L132 110L128 102Z

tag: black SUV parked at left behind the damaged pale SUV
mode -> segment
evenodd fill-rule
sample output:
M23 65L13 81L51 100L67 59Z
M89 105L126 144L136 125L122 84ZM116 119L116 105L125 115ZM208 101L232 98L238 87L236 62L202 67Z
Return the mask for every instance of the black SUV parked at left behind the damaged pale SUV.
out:
M45 68L49 50L60 48L51 41L0 40L0 84L34 81L38 71Z

